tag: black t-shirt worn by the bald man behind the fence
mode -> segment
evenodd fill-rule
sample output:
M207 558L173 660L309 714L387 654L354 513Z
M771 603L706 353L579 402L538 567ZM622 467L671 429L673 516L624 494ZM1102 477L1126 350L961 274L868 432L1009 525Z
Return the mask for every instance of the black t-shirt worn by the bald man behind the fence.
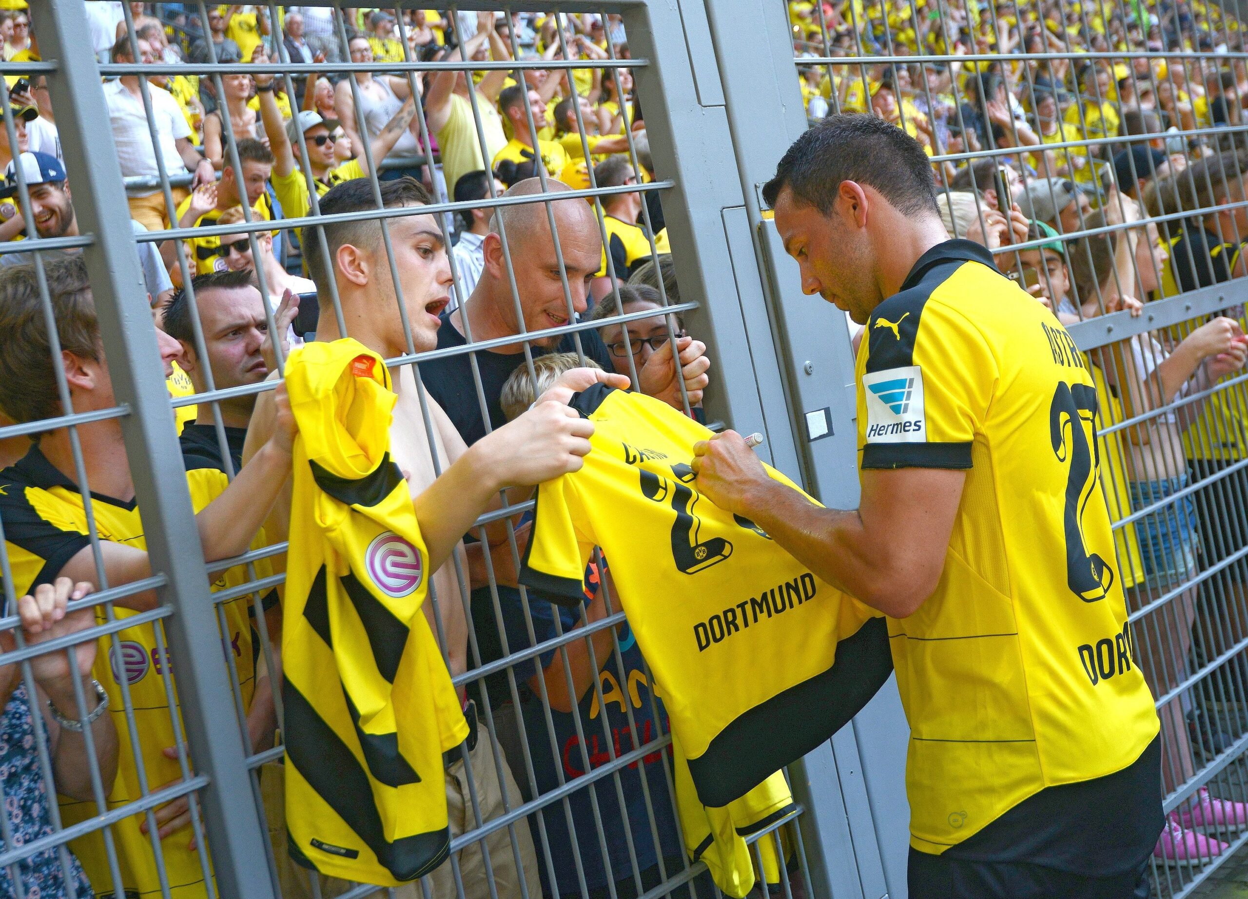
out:
M582 331L579 335L564 335L554 350L534 346L532 352L534 356L543 356L548 352L575 352L575 337L578 336L587 358L594 360L605 371L614 371L607 345L593 330ZM468 341L451 323L449 316L443 316L442 327L438 328L438 350L467 345ZM477 357L477 368L480 371L480 386L489 408L490 428L499 428L507 423L507 416L503 415L503 407L499 405L503 383L513 371L524 365L524 353L497 353L489 350L477 350L473 355ZM429 391L429 396L437 400L442 410L451 417L459 436L464 438L464 443L472 446L485 436L485 420L480 413L477 382L473 378L468 353L422 362L421 381Z

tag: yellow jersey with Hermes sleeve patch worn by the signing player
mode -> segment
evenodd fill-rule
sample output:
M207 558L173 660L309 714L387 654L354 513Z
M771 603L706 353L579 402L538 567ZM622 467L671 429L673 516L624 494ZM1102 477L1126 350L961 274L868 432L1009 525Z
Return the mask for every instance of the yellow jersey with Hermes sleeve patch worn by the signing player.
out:
M920 257L867 335L862 468L966 469L935 593L889 621L910 844L940 854L1046 787L1128 768L1159 725L1098 483L1096 387L1066 330L958 240Z

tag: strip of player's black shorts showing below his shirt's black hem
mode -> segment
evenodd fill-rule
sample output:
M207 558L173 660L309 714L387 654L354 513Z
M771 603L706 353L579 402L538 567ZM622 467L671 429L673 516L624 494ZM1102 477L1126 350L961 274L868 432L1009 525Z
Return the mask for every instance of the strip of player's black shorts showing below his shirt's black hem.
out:
M910 899L1148 899L1148 858L1123 874L1087 877L1027 862L968 862L910 850Z

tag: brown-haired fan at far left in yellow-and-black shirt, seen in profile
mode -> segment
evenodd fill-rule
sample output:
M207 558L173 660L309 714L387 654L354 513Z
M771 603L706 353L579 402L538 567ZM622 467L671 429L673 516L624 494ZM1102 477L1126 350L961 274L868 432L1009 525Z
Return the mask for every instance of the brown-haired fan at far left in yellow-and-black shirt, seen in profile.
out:
M49 261L45 262L45 273L74 411L90 412L114 407L116 400L107 363L100 352L91 287L82 261ZM0 408L19 422L60 415L61 405L51 370L52 356L42 323L40 287L31 266L14 266L0 273L0 370L4 371L0 377ZM188 488L197 509L196 524L207 561L237 556L251 547L290 471L293 418L285 388L278 387L276 393L273 403L278 412L273 436L232 484L226 487L225 476L220 472L207 472L208 477L188 477ZM92 553L86 533L82 498L75 482L76 467L70 435L66 428L45 432L16 466L5 469L2 481L7 487L0 489L6 551L14 578L20 581L15 584L19 592L49 583L56 577L99 587L97 563L102 566L110 587L152 574L144 548L142 524L135 504L135 487L120 421L107 418L80 425L76 431L100 534L99 557ZM117 613L125 617L155 608L157 602L154 591L144 591L117 599ZM226 638L231 646L237 647L240 675L248 679L247 683L238 684L245 692L246 703L250 700L251 653L250 648L242 651L243 632L247 628L245 606L246 599L241 599L225 612L232 632ZM147 787L155 789L161 785L160 780L177 777L180 767L162 754L162 749L175 740L172 718L163 705L161 672L167 671L167 658L155 652L157 644L152 634L151 624L124 629L119 633L122 639L121 661L101 656L95 671L96 679L110 685L114 720L119 729L129 727L127 714L121 694L111 689L117 684L116 677L110 672L126 672L131 692L136 695L135 713L144 725L140 745L150 778ZM132 646L127 646L127 641ZM155 702L139 699L136 692L141 689L150 689L145 699ZM160 710L155 710L156 708ZM140 795L137 778L134 759L126 753L111 792L116 805L124 807ZM151 778L160 780L152 782ZM161 819L162 814L168 814L168 808L166 805L156 810L157 822L163 825L161 837L166 837L170 828L180 827L176 820ZM94 803L86 803L84 810L85 814L94 814ZM72 817L70 808L66 808L66 817ZM114 825L114 834L126 882L124 890L141 890L146 894L158 892L160 885L152 844L141 833L145 824L142 815L130 815ZM75 849L94 880L96 893L114 890L115 884L99 838L80 840ZM186 884L173 893L175 897L190 899L208 894L207 884L201 879L200 859L187 849L185 837L168 840L163 847L163 855L171 879L176 877L178 879L175 883ZM117 894L124 890L119 885Z

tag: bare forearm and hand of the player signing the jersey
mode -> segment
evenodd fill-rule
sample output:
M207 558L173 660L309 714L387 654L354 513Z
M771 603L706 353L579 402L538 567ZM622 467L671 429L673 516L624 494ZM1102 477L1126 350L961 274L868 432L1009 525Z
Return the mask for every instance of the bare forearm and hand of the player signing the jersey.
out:
M894 618L936 589L962 498L963 469L864 469L854 512L815 506L773 479L734 431L694 446L698 489L749 518L817 577Z

